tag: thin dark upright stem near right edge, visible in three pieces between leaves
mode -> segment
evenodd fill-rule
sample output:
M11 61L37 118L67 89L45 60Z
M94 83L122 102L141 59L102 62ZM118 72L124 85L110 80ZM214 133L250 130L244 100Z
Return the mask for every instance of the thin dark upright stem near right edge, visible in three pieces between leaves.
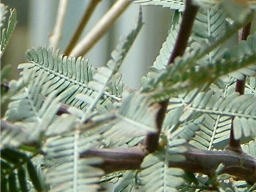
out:
M239 42L241 42L242 40L246 40L247 37L250 35L250 29L251 29L251 22L249 24L247 24L246 26L244 26L242 28L242 30L239 33ZM236 89L235 91L240 93L240 95L244 94L244 89L245 89L245 80L246 80L246 76L244 76L243 80L236 80ZM232 123L231 123L231 129L230 129L230 136L229 136L229 143L228 146L226 148L230 149L230 150L234 150L237 152L242 152L241 146L240 146L240 139L236 140L234 138L234 125L233 125L233 121L234 118L232 119Z

